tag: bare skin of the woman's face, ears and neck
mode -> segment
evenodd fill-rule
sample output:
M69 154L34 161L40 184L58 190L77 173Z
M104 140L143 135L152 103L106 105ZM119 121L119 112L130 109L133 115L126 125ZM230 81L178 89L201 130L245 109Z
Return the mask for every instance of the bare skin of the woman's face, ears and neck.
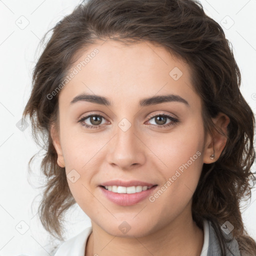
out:
M192 87L189 66L182 60L150 42L125 45L109 39L84 50L70 70L95 48L98 54L59 92L59 130L51 127L59 166L65 167L66 174L75 169L80 175L74 183L67 181L77 204L91 219L84 255L199 256L203 230L192 219L192 195L202 164L217 160L226 139L213 133L204 141L201 100ZM177 80L169 75L174 67L182 71ZM112 105L87 101L70 105L82 92L105 96ZM142 98L170 93L184 98L189 106L177 101L138 104ZM91 113L104 116L99 128L85 128L77 121ZM161 128L161 122L149 115L162 113L179 122ZM118 126L123 118L131 124L126 131ZM225 114L219 113L213 121L227 132ZM90 118L83 122L96 123ZM170 122L166 118L164 124ZM98 187L119 178L158 184L158 190L196 152L200 156L153 202L146 198L120 206ZM125 234L118 228L123 221L130 226Z

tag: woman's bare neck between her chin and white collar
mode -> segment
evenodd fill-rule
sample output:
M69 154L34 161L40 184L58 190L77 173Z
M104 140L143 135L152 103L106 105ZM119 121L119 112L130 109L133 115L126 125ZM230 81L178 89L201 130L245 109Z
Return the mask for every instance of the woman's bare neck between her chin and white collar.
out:
M200 256L203 246L203 230L193 221L192 216L180 215L164 228L141 237L113 236L92 223L92 233L86 243L85 256L117 255L190 255Z

